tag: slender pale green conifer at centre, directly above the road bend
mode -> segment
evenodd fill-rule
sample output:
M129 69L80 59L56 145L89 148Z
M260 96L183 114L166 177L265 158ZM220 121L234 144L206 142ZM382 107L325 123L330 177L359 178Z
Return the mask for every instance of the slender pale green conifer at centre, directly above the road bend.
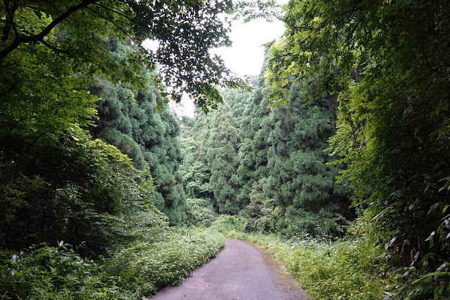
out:
M244 205L237 201L238 135L238 125L230 106L223 104L214 113L206 144L208 168L211 170L209 182L220 213L238 213Z

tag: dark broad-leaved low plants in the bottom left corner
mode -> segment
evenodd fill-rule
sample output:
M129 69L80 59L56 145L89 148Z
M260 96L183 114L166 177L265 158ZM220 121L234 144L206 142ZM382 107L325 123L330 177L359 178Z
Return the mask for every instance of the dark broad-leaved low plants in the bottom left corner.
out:
M81 258L60 242L32 246L20 254L0 253L2 299L118 299L115 285L101 282L100 265Z

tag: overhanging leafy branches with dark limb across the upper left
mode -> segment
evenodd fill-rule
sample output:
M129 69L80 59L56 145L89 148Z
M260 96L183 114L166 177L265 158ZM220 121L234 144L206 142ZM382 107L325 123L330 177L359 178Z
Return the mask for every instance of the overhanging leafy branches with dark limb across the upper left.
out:
M213 47L230 45L228 29L218 18L230 8L230 0L4 1L0 6L0 67L2 75L9 77L2 78L5 86L1 92L21 87L21 81L13 76L23 67L23 56L31 54L46 65L40 77L61 77L56 71L62 68L82 75L77 85L101 73L113 82L143 86L147 79L137 70L144 65L149 70L158 68L162 73L151 79L164 94L180 101L187 92L207 111L221 102L216 85L243 85L220 57L209 55ZM102 50L110 35L132 38L139 51L115 61ZM159 42L156 51L142 47L148 38ZM11 61L15 63L8 63ZM170 89L165 92L164 87Z

